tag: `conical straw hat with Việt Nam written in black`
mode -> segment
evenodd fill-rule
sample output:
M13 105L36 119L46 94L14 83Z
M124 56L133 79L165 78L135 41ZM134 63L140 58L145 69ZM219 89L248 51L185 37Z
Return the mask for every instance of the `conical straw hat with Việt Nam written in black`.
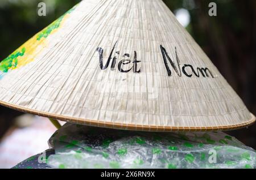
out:
M229 130L255 121L161 0L84 0L0 64L0 104L90 126Z

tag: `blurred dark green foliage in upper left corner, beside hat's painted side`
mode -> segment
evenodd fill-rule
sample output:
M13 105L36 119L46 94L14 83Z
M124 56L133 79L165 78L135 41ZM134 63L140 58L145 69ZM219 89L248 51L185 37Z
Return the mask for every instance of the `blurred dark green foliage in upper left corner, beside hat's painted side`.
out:
M47 16L38 16L38 3L45 2ZM35 33L63 15L79 0L1 0L0 1L0 59L19 48Z

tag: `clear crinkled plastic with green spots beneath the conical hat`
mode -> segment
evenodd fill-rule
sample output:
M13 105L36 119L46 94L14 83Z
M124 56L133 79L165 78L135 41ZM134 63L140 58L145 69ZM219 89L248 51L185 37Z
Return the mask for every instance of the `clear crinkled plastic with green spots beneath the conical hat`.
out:
M66 123L49 139L52 168L255 168L256 153L224 132L142 132Z

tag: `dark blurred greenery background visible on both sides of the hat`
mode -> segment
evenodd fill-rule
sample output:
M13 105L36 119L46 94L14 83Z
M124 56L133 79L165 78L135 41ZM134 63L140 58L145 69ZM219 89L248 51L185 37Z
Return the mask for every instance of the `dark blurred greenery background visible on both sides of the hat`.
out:
M45 2L47 16L38 16L38 3ZM35 33L64 14L79 0L1 0L0 59L4 59ZM164 0L176 15L185 16L185 27L232 85L250 112L256 114L256 1L255 0ZM217 16L209 16L209 3ZM183 10L183 11L180 11ZM185 12L185 14L184 14ZM21 113L0 107L0 137ZM256 125L229 131L256 148Z

